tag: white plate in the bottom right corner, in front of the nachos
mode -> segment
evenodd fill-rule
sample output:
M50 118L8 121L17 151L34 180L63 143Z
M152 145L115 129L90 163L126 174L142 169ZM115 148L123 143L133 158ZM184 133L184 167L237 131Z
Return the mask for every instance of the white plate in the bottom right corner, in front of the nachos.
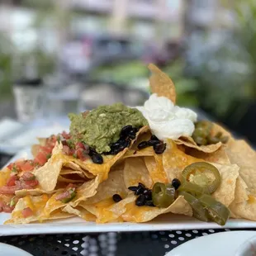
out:
M230 231L201 236L179 245L166 256L234 256L236 250L256 231Z

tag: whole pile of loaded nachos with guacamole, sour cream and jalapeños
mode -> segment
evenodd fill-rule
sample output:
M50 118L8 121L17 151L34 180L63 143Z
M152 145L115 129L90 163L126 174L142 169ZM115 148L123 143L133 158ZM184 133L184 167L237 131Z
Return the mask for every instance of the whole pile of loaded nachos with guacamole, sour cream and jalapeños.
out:
M70 114L70 133L39 139L34 159L2 169L6 224L72 216L146 222L170 213L219 225L256 220L254 149L176 106L173 81L153 64L149 70L144 106Z

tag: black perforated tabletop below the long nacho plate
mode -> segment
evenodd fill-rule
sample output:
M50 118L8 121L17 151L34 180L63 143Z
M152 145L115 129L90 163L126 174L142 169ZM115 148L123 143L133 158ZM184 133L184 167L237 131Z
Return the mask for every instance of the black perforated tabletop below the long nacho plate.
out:
M17 246L34 256L164 256L188 240L223 231L230 230L170 230L93 235L22 235L1 237L0 242Z

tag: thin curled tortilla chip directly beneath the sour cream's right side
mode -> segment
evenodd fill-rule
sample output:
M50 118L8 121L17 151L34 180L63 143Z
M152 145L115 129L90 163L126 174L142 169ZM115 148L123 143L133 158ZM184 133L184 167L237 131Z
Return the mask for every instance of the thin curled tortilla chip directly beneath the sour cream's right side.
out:
M192 137L184 137L184 136L180 137L178 140L174 140L174 142L177 145L185 145L188 148L197 149L199 151L202 151L208 154L216 152L216 150L220 149L222 145L221 142L218 142L217 144L198 146L196 142L192 139Z

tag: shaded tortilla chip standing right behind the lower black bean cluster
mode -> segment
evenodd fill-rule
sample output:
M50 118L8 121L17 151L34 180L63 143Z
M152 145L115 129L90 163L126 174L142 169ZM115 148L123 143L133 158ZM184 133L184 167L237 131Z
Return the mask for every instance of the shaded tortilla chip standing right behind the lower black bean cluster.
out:
M124 180L126 187L138 186L138 183L143 183L145 187L149 188L153 186L144 158L126 159Z

